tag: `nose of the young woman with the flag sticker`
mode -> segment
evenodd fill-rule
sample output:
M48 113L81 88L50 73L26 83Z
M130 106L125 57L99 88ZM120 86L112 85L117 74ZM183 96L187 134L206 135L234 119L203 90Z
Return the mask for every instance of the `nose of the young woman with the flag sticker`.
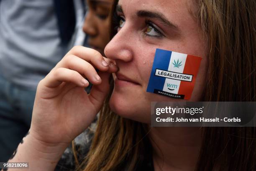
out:
M122 60L129 62L133 59L132 42L133 38L131 36L131 31L129 29L123 28L118 31L118 33L112 38L112 40L107 44L104 49L105 56L114 60Z

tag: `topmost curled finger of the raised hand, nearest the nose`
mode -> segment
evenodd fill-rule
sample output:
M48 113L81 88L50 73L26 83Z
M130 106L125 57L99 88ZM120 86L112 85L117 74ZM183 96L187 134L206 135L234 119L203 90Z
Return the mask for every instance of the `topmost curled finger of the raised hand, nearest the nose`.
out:
M115 63L112 59L108 59L109 63L105 61L103 56L100 54L100 52L92 49L92 48L87 48L84 46L74 46L66 56L68 55L75 55L78 56L81 59L84 59L85 61L93 64L97 69L100 71L106 71L106 68L109 67L108 64L110 64L110 61L112 63ZM64 56L64 58L66 57ZM114 67L114 66L112 66Z

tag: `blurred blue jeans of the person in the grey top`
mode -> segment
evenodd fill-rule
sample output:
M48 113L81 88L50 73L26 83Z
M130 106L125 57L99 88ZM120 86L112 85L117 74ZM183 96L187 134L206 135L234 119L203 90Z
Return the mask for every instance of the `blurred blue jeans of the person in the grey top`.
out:
M28 132L35 89L26 89L0 74L0 162L6 162Z

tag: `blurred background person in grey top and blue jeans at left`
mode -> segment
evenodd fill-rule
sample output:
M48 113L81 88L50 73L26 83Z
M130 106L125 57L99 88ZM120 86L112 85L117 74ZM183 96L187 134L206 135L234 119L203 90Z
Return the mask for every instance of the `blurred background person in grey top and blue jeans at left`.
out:
M72 46L83 3L0 0L0 162L28 132L37 84Z

